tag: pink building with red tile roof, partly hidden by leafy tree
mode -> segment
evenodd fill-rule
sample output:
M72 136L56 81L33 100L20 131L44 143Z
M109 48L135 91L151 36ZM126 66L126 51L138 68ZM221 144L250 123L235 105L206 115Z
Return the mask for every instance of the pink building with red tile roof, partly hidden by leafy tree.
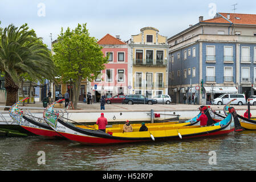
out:
M119 39L119 36L105 35L98 42L103 47L101 50L105 56L109 54L105 69L94 82L91 82L88 92L96 95L99 102L101 96L106 98L118 94L127 94L128 82L128 45ZM97 85L95 87L95 85Z

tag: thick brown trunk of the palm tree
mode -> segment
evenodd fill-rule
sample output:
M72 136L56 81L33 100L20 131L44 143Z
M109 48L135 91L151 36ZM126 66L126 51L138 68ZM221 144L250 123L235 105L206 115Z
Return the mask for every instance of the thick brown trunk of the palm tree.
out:
M19 86L15 84L9 73L5 72L6 106L12 106L17 102ZM5 107L5 110L9 110Z

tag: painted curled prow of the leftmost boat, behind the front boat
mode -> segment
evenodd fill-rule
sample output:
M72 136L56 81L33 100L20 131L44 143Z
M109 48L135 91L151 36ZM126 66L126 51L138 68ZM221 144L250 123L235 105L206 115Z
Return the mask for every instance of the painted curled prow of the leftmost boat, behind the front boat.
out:
M31 115L23 113L23 111L19 109L19 104L27 99L29 99L29 97L24 98L10 107L10 117L18 123L19 126L30 131L32 134L42 135L44 137L62 137L62 135L59 135L50 126L48 126L47 123L44 122L43 118L37 118L39 121L43 122L36 121L35 117L31 117Z

